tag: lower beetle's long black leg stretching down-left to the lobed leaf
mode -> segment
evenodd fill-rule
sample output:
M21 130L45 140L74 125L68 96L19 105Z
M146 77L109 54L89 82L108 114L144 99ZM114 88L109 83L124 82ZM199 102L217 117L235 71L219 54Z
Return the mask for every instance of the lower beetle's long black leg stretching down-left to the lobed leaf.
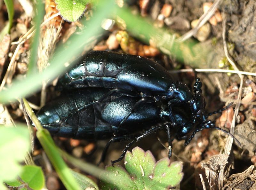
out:
M148 136L148 135L150 135L150 134L152 134L152 133L155 133L155 132L157 132L157 131L160 131L160 130L161 130L163 127L165 127L165 126L166 126L166 123L160 124L160 125L158 125L158 126L156 126L156 127L154 127L154 128L149 129L148 131L142 133L140 136L135 137L132 142L130 142L128 145L125 146L125 148L124 148L123 153L121 154L121 156L120 156L117 160L111 161L112 165L113 165L114 163L116 163L116 162L120 162L121 160L123 160L125 153L128 151L128 149L132 146L133 143L139 141L140 139L143 139L144 137L146 137L146 136Z

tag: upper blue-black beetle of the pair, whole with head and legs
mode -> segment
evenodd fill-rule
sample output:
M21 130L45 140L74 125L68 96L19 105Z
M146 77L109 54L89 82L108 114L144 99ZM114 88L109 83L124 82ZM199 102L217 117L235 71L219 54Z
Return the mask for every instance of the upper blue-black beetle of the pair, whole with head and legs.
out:
M172 75L161 65L141 56L127 55L108 51L91 51L80 57L77 65L71 68L59 80L59 88L104 87L112 89L111 93L119 92L126 96L141 97L142 101L153 102L161 99L168 100L170 113L172 107L190 103L194 120L205 120L205 101L202 96L202 83L196 78L194 94L186 84L175 82ZM101 101L101 99L99 100ZM131 114L131 112L129 113ZM127 114L121 121L121 124ZM172 114L172 124L176 125Z

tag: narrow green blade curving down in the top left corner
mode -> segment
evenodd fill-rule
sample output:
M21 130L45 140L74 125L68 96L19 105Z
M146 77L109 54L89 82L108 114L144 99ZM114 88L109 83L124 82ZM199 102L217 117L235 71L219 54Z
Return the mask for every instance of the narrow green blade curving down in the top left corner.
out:
M4 4L7 9L9 21L8 21L8 24L3 28L3 30L0 33L0 41L2 41L5 34L10 33L10 30L12 28L13 15L14 15L13 1L12 0L4 0Z

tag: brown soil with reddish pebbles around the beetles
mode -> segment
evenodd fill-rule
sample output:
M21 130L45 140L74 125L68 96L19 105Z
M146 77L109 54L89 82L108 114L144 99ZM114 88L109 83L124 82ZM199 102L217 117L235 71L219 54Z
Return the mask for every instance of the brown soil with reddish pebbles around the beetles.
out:
M1 1L0 1L1 2ZM46 1L50 4L51 1ZM208 1L207 3L213 1ZM217 2L217 1L216 1ZM168 28L170 31L175 31L182 36L191 30L191 22L199 19L203 14L204 0L131 0L128 6L134 11L138 12L143 17L150 18L154 25L159 28ZM170 5L172 8L170 8ZM206 5L205 5L206 6ZM46 9L46 14L53 14L56 12L54 6ZM200 43L203 47L212 48L209 53L210 65L202 65L198 63L196 68L210 68L210 69L231 69L239 71L247 71L255 73L256 71L256 3L254 0L232 0L220 1L217 6L220 14L220 20L216 18L211 19L205 25L208 27L209 32L196 34L193 39ZM171 10L171 11L170 11ZM85 13L85 17L90 17L92 10L89 9ZM160 16L159 16L160 15ZM217 15L214 14L215 16ZM216 16L217 17L217 16ZM2 5L0 11L0 29L4 26L7 20L6 7ZM60 23L61 18L56 18ZM215 22L216 21L216 22ZM223 28L223 22L225 25ZM54 25L53 24L53 25ZM11 60L15 45L10 45L10 42L17 41L18 38L25 34L28 28L31 27L31 17L25 14L24 8L15 1L15 16L14 23L11 30L11 37L6 38L0 45L3 50L3 55L0 52L0 81L3 80L7 71L8 64ZM62 23L61 36L58 43L65 43L68 37L73 34L78 28L78 23ZM206 29L207 30L207 29ZM223 30L226 44L223 44ZM94 50L112 50L121 51L125 53L132 53L143 55L158 63L162 64L168 70L189 69L194 68L193 65L184 65L172 59L171 56L164 55L155 47L149 46L132 38L128 34L126 40L129 41L128 45L122 45L122 42L117 42L116 34L124 32L120 28L114 27L109 29L107 35L102 36L92 49ZM203 39L203 40L202 40ZM9 48L6 47L10 46ZM227 59L224 47L227 46L228 54L233 61ZM138 49L136 49L138 47ZM12 77L25 77L28 70L30 42L27 41L20 49L19 56L16 59L15 67L12 68ZM149 51L150 49L150 51ZM148 53L149 52L149 53ZM213 56L214 55L214 56ZM233 62L233 63L230 63ZM195 75L193 72L178 73L174 77L177 80L186 83L190 88L193 87ZM184 162L183 172L184 177L180 183L180 189L241 189L253 190L256 189L256 107L255 107L255 93L256 93L256 80L255 76L244 75L243 84L241 84L240 76L232 73L220 72L197 72L197 77L200 77L203 82L203 95L206 100L206 111L208 113L219 110L225 106L226 102L234 102L233 106L222 114L212 115L210 119L216 120L216 126L220 126L225 130L234 130L235 137L241 143L239 147L236 142L232 147L230 142L232 138L228 139L228 135L218 130L203 130L198 132L191 143L184 147L184 141L173 141L173 156L172 161ZM12 81L12 80L11 80ZM10 83L11 83L10 81ZM241 86L242 85L242 86ZM56 97L58 94L54 90L54 85L51 84L46 88L47 103L50 99ZM28 100L35 106L35 111L40 106L41 92L35 93ZM242 99L240 106L237 99ZM42 101L42 100L41 100ZM227 105L227 104L226 104ZM23 112L18 103L12 103L7 106L8 112L12 119L16 122L25 123ZM1 114L1 113L0 113ZM234 114L235 124L232 124ZM10 118L10 117L9 117ZM7 124L7 121L1 121L1 124ZM156 138L158 137L158 139ZM100 160L100 155L107 141L89 142L86 140L75 140L67 138L54 137L58 146L73 154L77 158L81 158L87 162L96 164ZM167 138L165 131L159 132L157 135L153 134L147 138L136 143L133 147L139 146L144 150L151 150L156 160L167 156ZM123 148L127 142L113 143L104 164L109 164L111 160L118 158L122 153ZM132 148L133 148L132 147ZM40 164L46 168L45 156L42 147L36 140L35 151L33 153L36 164ZM100 167L104 167L101 164ZM123 164L120 163L120 164ZM52 180L54 187L50 185L48 189L63 189L63 185L57 174L53 170L46 170L47 182ZM202 174L203 182L199 174ZM96 182L98 180L92 176ZM49 182L50 183L50 182ZM46 183L47 184L47 183Z

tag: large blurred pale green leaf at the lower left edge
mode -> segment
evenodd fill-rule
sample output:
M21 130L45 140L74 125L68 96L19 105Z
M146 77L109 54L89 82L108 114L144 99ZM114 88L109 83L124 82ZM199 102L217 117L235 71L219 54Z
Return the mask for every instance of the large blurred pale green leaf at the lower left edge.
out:
M26 127L0 127L0 189L4 189L4 181L12 181L20 174L22 166L19 162L24 159L29 147Z

